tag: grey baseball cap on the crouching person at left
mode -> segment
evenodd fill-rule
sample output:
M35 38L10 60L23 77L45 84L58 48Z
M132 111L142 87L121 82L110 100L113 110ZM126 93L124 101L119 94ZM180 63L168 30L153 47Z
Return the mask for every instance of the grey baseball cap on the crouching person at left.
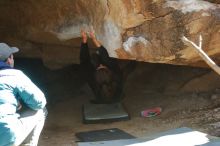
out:
M16 47L9 47L6 43L0 43L0 60L5 61L11 54L18 52Z

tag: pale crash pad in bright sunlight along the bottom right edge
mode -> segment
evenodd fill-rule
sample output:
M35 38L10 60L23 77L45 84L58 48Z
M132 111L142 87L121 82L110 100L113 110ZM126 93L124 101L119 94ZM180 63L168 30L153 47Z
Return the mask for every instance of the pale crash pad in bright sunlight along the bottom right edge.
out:
M220 138L187 127L152 136L110 141L79 142L78 146L220 146Z

